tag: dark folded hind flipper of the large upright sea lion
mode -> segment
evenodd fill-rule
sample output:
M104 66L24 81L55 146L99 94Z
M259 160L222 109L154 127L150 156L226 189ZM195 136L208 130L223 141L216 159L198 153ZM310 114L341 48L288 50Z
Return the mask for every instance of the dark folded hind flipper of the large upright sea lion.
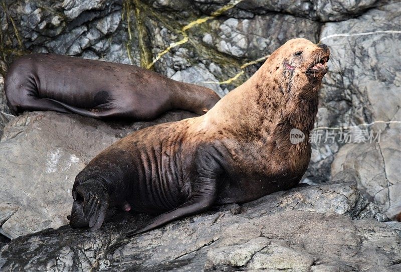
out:
M103 183L90 179L78 185L76 192L77 197L74 203L83 201L81 211L82 218L80 220L88 222L91 230L99 229L106 217L106 211L109 207L109 195L106 187ZM82 225L79 222L75 222L73 218L80 217L73 217L73 214L71 214L70 225L72 227L79 227L79 225Z

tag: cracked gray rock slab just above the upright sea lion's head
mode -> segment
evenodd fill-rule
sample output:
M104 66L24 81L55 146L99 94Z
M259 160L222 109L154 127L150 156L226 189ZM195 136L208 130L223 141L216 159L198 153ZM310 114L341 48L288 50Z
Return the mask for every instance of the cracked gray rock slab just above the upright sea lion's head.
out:
M293 38L317 41L320 24L291 15L268 14L252 19L217 19L208 22L208 28L202 37L204 43L219 52L254 60Z

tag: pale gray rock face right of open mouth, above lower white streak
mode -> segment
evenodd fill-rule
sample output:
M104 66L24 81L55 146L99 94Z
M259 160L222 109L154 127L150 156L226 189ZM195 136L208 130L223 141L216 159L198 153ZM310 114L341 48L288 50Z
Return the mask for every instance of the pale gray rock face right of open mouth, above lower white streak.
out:
M330 47L331 57L338 67L325 76L327 87L336 82L351 102L351 116L347 125L369 123L374 120L399 120L400 77L394 67L401 64L396 46L401 34L395 33L394 25L401 16L394 12L397 4L372 9L357 19L325 24L320 40ZM350 31L352 30L352 31ZM393 32L393 33L391 33ZM349 33L352 36L336 36ZM385 63L385 65L382 65ZM333 87L331 87L333 88ZM388 99L381 99L385 94Z

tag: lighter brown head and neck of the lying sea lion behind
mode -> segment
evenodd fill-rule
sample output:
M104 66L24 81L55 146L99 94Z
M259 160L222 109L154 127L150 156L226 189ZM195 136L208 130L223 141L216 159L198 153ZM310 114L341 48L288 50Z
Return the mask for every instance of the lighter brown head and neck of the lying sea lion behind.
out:
M172 102L173 108L180 108L203 115L208 112L220 97L211 89L190 83L177 82L176 99Z

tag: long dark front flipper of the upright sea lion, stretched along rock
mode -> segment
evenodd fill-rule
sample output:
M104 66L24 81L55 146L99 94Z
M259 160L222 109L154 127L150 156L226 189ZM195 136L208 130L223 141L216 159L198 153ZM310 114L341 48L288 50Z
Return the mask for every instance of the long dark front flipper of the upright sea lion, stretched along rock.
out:
M161 225L182 218L184 216L192 215L207 210L213 205L216 198L216 182L214 181L209 183L207 188L205 188L205 190L203 191L207 192L204 192L202 195L195 193L194 196L190 197L186 202L184 202L178 208L157 216L150 224L148 224L144 228L141 228L137 231L128 232L127 237L157 228Z

